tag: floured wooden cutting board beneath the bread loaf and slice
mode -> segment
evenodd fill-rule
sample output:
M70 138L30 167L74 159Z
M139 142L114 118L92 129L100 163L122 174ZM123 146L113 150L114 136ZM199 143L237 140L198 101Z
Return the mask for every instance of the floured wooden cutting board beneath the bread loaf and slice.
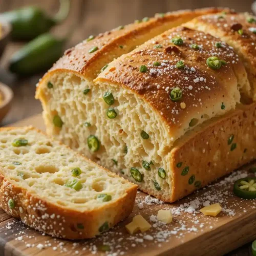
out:
M33 125L44 130L41 115L13 126ZM253 165L253 164L251 164ZM255 164L254 164L255 165ZM234 180L248 174L250 165L218 180L175 204L164 204L139 192L132 215L101 237L67 241L53 239L9 217L0 209L0 255L221 255L256 239L256 201L232 193ZM253 175L253 174L250 174ZM220 202L218 217L204 217L203 204ZM143 207L143 208L142 208ZM154 222L159 209L171 209L174 221ZM124 226L135 215L153 226L146 233L130 236ZM152 217L153 215L153 217ZM102 252L102 245L111 251ZM115 254L116 253L116 254Z

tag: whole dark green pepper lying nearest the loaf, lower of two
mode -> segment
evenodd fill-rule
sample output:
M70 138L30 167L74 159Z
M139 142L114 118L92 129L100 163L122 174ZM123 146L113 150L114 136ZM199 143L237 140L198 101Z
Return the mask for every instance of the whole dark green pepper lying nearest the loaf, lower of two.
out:
M14 53L9 70L19 76L33 75L49 69L63 53L66 39L42 34Z

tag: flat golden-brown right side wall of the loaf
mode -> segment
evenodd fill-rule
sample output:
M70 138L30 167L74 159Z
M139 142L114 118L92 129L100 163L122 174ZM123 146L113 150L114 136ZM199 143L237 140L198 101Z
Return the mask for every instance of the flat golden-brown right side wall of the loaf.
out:
M181 199L252 161L256 158L255 145L256 103L241 106L241 109L199 130L196 135L190 133L172 150L173 188L169 201ZM177 167L178 163L182 165ZM188 172L184 170L186 167ZM201 183L198 187L195 186L197 181Z

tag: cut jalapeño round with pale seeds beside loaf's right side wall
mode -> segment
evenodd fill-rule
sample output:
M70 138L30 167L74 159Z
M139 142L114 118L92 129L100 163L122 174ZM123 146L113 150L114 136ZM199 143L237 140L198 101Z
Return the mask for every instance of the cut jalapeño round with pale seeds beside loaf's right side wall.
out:
M233 192L243 199L256 198L256 178L242 178L234 182Z

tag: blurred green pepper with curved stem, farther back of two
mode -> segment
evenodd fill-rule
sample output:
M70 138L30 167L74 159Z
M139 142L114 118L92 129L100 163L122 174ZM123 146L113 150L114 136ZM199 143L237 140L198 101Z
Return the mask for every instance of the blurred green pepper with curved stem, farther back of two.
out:
M15 40L31 40L48 32L53 26L62 22L69 14L70 0L59 0L60 7L55 17L49 17L37 7L25 7L0 14L0 23L12 25L12 38Z

